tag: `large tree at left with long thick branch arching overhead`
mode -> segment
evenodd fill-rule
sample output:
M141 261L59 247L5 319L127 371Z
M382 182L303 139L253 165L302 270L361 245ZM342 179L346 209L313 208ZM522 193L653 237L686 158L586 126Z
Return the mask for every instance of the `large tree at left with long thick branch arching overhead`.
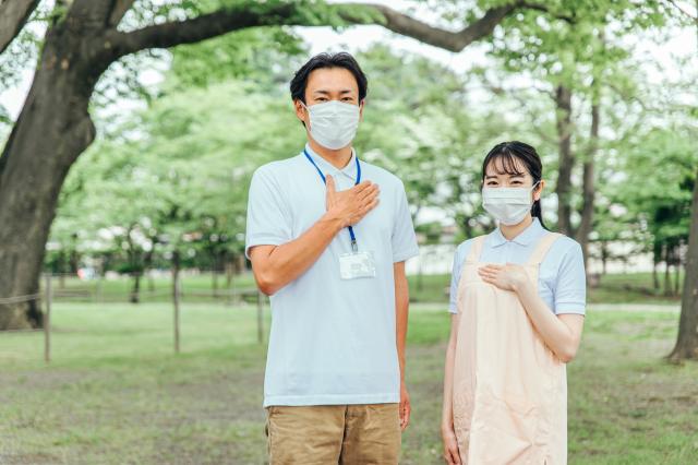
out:
M23 31L36 2L0 3L0 50ZM14 7L13 7L14 4ZM16 9L16 4L24 9ZM312 0L57 0L26 103L0 157L0 296L34 294L60 189L95 139L89 100L112 63L155 48L192 44L255 26L381 24L449 50L488 36L524 1L483 1L458 32L385 5ZM537 8L541 8L540 5ZM9 32L9 34L8 34ZM118 67L118 65L117 65ZM37 138L36 134L41 134ZM0 330L38 326L35 302L0 306Z

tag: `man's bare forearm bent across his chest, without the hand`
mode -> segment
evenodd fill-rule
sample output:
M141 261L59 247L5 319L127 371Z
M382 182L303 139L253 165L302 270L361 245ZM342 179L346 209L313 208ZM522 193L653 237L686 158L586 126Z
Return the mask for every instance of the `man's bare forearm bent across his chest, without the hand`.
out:
M260 289L267 295L276 294L303 274L341 229L341 220L327 213L299 238L274 247L261 260L255 258L252 263Z

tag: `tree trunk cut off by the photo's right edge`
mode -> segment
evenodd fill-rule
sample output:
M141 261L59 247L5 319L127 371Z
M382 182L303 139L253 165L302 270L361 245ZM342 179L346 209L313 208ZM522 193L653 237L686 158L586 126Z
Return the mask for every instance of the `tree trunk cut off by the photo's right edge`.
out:
M696 5L698 7L698 2ZM674 361L698 359L698 172L696 172L691 205L678 337L674 350L669 356Z

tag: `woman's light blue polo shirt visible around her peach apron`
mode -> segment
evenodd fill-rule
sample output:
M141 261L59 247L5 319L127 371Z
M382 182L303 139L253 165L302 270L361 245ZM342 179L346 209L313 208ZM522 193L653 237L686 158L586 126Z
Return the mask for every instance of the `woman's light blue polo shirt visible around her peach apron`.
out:
M482 245L480 261L489 263L524 264L531 257L540 239L547 231L538 218L517 237L507 240L500 228L490 233ZM458 313L456 300L462 264L470 253L472 239L458 246L454 258L450 279L450 305L448 310ZM538 294L555 312L585 314L587 302L587 276L581 247L566 236L557 238L541 262L538 277Z

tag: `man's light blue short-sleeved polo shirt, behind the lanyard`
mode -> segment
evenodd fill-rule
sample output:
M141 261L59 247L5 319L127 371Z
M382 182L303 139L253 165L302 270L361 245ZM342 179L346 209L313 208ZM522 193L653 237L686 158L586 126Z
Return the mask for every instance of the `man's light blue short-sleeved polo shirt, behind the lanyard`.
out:
M337 169L305 147L337 190L354 186L356 154ZM402 182L363 160L361 180L381 188L380 203L353 229L372 251L375 278L346 281L339 255L351 251L342 229L320 259L274 296L264 406L399 402L393 264L418 254ZM250 186L245 253L289 242L325 214L325 184L303 153L258 168ZM249 257L249 255L248 255Z

